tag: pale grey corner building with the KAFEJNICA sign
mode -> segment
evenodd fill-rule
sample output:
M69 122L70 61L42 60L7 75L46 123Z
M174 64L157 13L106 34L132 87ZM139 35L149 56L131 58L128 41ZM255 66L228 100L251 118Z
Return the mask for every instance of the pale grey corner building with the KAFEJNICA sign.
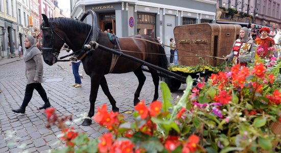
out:
M175 26L215 22L216 3L209 0L80 0L74 5L71 16L80 19L86 10L93 10L102 31L110 29L118 37L136 34L152 38L159 36L164 44L169 45ZM170 53L170 48L165 49Z

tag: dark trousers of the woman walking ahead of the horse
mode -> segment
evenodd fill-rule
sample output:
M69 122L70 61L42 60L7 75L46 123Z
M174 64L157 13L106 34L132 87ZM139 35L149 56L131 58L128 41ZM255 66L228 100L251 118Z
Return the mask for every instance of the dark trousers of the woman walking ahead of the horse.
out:
M41 98L43 99L43 101L45 103L49 101L48 97L47 97L47 94L46 94L44 88L42 87L42 85L40 83L31 83L31 84L28 84L26 86L25 98L24 98L24 101L22 101L22 104L21 104L22 108L27 107L29 101L32 98L32 94L33 94L34 89L37 90L37 92L39 93L39 95L41 96Z

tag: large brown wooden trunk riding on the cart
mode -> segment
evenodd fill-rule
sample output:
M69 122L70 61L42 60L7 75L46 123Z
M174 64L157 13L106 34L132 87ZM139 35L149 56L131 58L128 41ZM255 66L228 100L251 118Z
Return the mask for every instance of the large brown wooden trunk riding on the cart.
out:
M238 39L241 29L239 24L200 23L175 27L174 36L178 49L180 65L217 66L223 57L230 54L233 42ZM183 50L184 49L184 50ZM200 60L199 57L203 59Z

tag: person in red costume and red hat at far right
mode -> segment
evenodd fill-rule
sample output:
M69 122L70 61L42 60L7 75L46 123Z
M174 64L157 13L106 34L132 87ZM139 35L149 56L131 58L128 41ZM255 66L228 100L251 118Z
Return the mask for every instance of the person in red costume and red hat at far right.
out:
M257 45L257 50L255 53L256 63L260 62L259 59L269 58L273 55L275 57L278 56L276 55L277 52L274 53L274 50L270 49L270 47L275 48L274 40L268 36L270 29L268 27L263 27L260 29L259 33L262 34L261 37L255 39L255 43Z

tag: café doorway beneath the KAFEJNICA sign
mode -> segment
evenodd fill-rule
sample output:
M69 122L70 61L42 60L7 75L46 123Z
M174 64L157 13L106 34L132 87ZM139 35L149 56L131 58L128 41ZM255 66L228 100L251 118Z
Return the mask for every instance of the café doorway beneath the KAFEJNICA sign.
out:
M115 34L115 13L100 13L100 29L102 31L110 30L110 33Z

